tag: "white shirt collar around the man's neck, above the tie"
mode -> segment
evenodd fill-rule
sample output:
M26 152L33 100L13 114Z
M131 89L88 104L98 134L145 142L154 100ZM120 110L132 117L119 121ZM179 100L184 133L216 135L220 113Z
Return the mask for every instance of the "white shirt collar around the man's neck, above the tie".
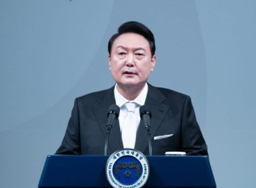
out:
M145 84L141 93L139 93L139 95L133 101L129 101L119 93L119 91L117 90L117 84L115 85L115 89L114 89L115 101L119 107L122 107L127 102L137 103L139 106L142 106L145 104L147 94L148 94L148 83Z

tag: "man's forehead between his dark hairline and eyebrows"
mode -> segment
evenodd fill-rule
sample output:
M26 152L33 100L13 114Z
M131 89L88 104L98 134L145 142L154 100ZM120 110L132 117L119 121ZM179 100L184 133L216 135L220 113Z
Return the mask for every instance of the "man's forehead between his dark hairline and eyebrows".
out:
M144 48L145 50L150 50L148 40L135 33L121 34L113 42L113 48L117 48L118 46L124 46L125 48Z

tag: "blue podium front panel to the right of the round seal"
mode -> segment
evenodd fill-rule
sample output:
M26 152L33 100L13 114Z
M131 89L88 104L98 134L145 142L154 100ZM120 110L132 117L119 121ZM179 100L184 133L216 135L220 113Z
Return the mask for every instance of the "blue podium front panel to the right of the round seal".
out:
M149 187L216 187L208 156L148 156Z

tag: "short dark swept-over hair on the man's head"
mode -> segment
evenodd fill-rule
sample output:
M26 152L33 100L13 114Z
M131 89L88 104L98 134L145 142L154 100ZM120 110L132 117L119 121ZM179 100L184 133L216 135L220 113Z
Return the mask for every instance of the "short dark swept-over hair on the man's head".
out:
M113 42L121 36L121 34L125 33L135 33L143 36L148 40L148 43L150 44L150 51L152 56L154 56L156 52L156 45L155 45L155 38L154 34L150 31L149 28L147 28L142 23L139 23L137 21L127 21L123 23L121 26L119 26L117 30L117 34L114 34L109 40L108 40L108 54L110 54Z

